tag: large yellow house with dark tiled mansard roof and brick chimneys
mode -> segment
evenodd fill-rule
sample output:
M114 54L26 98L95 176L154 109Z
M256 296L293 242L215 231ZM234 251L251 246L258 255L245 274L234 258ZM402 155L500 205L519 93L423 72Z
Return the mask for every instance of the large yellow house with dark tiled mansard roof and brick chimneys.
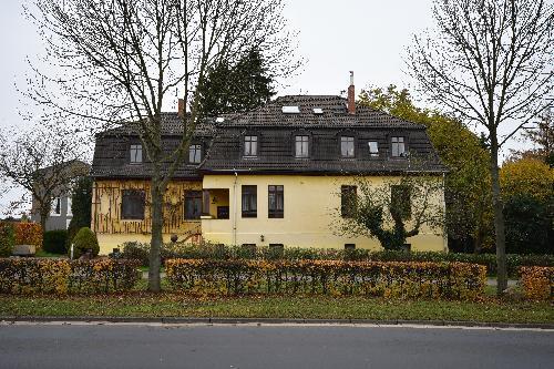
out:
M162 121L164 146L175 146L178 113L164 113ZM148 165L132 126L96 136L92 227L103 253L126 240L150 240ZM165 196L164 239L378 248L368 237L334 234L332 209L357 175L379 183L406 172L441 180L445 168L424 126L356 105L353 83L348 99L278 98L197 126ZM410 242L412 249L447 249L445 237L430 229Z

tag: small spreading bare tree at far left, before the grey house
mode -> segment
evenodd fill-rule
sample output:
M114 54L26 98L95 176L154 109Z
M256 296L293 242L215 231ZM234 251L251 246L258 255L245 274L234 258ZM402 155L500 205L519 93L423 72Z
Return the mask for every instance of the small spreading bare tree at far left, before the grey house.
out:
M31 195L27 198L25 194L12 206L34 199L34 209L45 230L52 199L69 188L75 177L88 175L88 167L79 161L83 151L75 133L52 126L28 131L9 129L0 131L0 176Z

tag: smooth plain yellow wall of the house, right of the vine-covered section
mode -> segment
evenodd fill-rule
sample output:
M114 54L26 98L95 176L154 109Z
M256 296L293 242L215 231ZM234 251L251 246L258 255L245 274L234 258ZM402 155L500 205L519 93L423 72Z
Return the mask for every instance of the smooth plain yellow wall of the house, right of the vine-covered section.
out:
M382 184L390 177L368 177L371 183ZM340 186L356 184L347 176L300 175L206 175L204 188L229 188L229 219L202 219L205 240L223 244L284 244L285 246L343 248L356 244L357 248L379 249L379 242L368 237L346 237L334 233L337 211L340 207ZM240 214L242 185L257 185L257 218L243 218ZM268 218L268 185L283 185L285 194L284 218ZM437 201L442 201L437 199ZM236 235L233 228L236 226ZM264 236L264 240L261 240ZM444 250L442 235L423 227L408 240L412 250Z

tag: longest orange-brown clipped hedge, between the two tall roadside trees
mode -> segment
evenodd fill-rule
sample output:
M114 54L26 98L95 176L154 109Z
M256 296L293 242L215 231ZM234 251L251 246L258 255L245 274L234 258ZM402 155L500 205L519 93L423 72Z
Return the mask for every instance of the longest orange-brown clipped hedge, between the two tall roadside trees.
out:
M174 289L199 295L357 295L475 299L484 266L466 263L168 259Z

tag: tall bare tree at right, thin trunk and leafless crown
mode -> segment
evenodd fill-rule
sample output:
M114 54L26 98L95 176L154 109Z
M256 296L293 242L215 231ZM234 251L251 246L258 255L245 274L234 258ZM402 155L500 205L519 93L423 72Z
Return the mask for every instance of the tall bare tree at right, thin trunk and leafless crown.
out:
M435 32L414 38L408 63L421 92L486 130L497 259L507 286L499 151L552 105L554 13L544 0L435 0Z

